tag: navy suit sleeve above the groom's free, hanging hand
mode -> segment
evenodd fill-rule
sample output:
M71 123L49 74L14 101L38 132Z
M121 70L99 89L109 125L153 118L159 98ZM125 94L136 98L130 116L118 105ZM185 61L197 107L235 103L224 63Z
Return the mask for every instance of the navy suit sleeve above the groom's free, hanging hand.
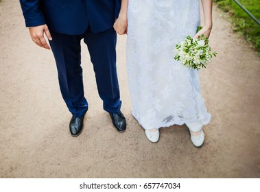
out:
M41 0L20 0L26 27L45 24L45 17L40 10Z

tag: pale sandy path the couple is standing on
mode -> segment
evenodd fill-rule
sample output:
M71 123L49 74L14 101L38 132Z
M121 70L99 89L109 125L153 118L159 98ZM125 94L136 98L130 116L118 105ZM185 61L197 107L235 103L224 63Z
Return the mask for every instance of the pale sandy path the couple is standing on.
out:
M128 128L117 132L97 95L82 47L89 110L78 138L60 95L51 51L36 47L19 1L0 3L0 178L259 178L260 59L215 9L211 46L217 58L201 73L213 115L206 141L193 147L185 125L161 129L152 144L131 115L126 36L118 38L118 74Z

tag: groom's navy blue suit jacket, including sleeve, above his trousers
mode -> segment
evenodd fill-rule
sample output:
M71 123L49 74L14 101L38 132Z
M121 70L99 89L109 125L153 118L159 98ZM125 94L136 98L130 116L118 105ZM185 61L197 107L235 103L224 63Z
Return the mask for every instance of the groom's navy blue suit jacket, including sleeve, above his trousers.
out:
M26 27L47 24L49 29L77 35L103 32L117 18L121 0L20 0Z

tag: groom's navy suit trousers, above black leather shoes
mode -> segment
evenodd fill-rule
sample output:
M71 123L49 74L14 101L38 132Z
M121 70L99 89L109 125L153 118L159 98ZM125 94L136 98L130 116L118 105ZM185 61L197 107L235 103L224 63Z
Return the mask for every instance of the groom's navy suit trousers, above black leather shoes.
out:
M116 69L117 34L113 28L93 33L88 27L82 35L67 35L51 32L49 41L58 69L62 97L73 117L83 117L88 110L84 97L81 67L80 40L88 47L95 71L99 97L107 112L119 112L121 100Z

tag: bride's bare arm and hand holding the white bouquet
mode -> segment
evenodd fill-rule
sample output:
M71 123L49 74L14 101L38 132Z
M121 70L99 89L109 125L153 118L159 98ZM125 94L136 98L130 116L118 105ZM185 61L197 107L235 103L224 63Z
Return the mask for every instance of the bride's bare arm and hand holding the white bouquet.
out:
M200 29L200 32L198 32L194 38L198 38L198 36L201 36L204 34L207 38L209 38L209 35L211 34L212 29L212 0L201 0L202 3L202 10L203 10L203 16L204 16L204 25L203 28Z

